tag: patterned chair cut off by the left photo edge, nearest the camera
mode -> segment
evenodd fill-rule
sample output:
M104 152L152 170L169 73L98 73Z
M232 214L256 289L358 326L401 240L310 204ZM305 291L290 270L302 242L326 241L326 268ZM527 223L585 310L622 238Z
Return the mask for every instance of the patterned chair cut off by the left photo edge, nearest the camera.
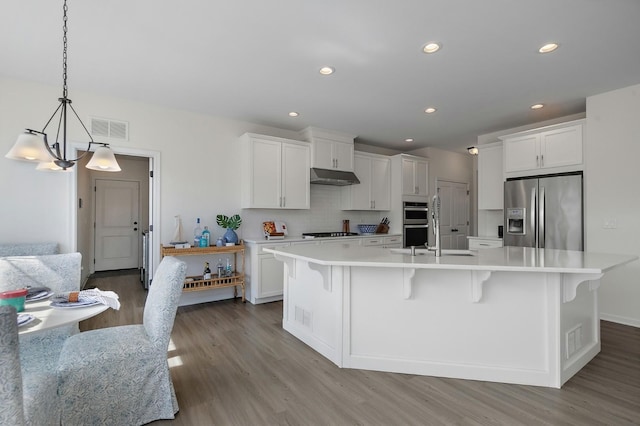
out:
M13 306L0 306L0 425L24 425L18 322Z

